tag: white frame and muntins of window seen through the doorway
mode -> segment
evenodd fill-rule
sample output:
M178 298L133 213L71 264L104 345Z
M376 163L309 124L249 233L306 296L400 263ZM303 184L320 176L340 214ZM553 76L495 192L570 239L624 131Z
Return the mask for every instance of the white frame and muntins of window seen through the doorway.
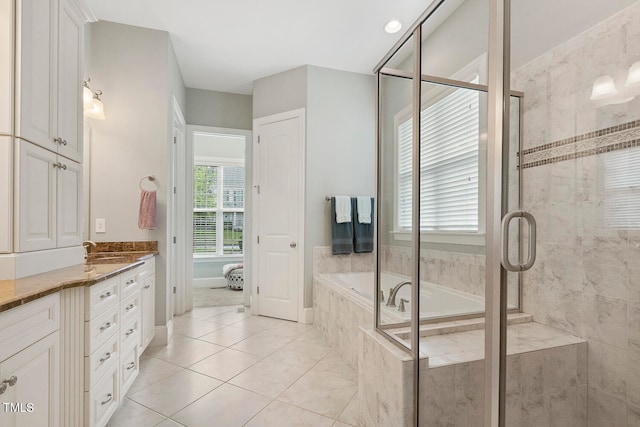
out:
M222 158L222 157L203 157L203 156L194 156L193 159L193 172L197 166L216 166L218 167L218 178L217 178L217 194L222 197L223 194L223 184L224 184L224 168L225 167L242 167L245 169L244 160L240 159L230 159L230 158ZM244 177L246 179L246 169ZM243 187L243 191L246 193L246 183ZM196 194L194 192L194 199ZM224 253L224 214L225 213L245 213L246 208L246 200L247 195L243 195L243 207L242 208L225 208L223 206L222 200L216 200L215 208L196 208L192 206L192 211L195 214L196 212L215 212L216 214L216 251L215 252L199 252L193 253L193 258L238 258L244 256L245 245L242 245L242 252L234 253L234 254L225 254ZM195 205L195 203L193 203ZM195 215L193 216L195 218ZM193 219L192 222L192 234L195 233L195 227L193 227ZM243 241L244 241L244 231L245 231L246 221L243 220ZM195 245L194 245L195 247Z

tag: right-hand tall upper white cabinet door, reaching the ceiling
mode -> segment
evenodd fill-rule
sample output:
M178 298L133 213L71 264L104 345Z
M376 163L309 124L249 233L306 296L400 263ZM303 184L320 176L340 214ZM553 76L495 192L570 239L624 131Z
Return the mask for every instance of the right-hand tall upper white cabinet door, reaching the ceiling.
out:
M81 162L84 21L71 0L60 0L58 24L58 154Z

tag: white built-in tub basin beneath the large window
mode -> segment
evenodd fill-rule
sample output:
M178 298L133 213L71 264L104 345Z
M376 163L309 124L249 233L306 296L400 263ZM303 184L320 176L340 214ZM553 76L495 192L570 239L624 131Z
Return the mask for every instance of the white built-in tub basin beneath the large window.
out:
M320 279L327 286L338 286L350 290L353 299L370 307L373 312L373 272L321 274ZM386 298L389 298L392 287L409 280L406 276L392 273L382 273L380 279L380 288L383 290L385 301ZM396 294L396 306L400 305L401 298L411 301L411 286L400 288ZM423 320L484 312L483 297L425 281L420 282L420 298L420 318ZM411 320L411 303L405 304L405 310L400 312L398 307L387 307L383 304L381 311L383 323L409 322Z

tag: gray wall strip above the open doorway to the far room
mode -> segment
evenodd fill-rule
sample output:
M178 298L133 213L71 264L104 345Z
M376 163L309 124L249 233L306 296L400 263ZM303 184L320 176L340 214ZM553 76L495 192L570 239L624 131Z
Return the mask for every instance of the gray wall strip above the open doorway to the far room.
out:
M252 96L187 88L185 119L190 125L251 129Z

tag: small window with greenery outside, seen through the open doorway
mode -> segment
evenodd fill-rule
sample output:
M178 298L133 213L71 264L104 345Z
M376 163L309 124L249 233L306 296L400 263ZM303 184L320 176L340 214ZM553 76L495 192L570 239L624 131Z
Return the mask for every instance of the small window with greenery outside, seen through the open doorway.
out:
M244 166L197 160L193 202L193 253L241 255Z

